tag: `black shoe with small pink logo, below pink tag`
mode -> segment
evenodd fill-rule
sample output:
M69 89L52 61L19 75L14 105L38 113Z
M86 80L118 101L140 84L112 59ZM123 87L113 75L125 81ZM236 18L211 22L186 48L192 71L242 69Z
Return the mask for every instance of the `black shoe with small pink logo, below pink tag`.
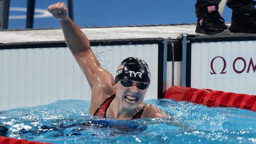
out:
M203 14L197 19L196 32L203 34L218 34L228 30L229 26L225 25L225 20L220 16L218 11Z

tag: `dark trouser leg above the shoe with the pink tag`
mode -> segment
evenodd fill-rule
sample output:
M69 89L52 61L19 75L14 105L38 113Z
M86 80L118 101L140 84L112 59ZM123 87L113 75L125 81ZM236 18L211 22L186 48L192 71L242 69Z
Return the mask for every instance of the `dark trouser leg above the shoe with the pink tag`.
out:
M208 12L207 6L215 5L216 11L219 9L219 3L221 0L197 0L195 4L196 16L200 16ZM236 1L236 0L234 0Z

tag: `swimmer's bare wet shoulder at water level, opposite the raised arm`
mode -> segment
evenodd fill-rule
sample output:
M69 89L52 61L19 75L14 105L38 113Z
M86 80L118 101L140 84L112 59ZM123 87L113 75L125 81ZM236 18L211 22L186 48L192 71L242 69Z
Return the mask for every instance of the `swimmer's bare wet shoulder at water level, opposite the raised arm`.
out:
M140 118L167 118L167 117L171 117L171 116L166 112L160 110L159 108L151 104L147 104Z

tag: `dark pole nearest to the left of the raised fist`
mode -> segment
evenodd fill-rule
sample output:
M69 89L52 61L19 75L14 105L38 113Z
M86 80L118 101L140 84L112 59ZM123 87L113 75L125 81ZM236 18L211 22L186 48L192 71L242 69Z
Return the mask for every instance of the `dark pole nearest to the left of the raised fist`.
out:
M27 0L26 28L33 28L35 0Z

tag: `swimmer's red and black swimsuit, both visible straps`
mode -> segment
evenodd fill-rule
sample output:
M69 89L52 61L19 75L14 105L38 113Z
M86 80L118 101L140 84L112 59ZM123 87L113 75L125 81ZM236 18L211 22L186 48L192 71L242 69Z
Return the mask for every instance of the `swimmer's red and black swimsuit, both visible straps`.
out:
M111 97L107 98L103 103L101 103L97 111L94 113L94 116L100 116L100 117L106 118L107 108L115 97L116 97L116 94L112 95ZM132 117L132 119L140 118L145 107L146 107L146 104L138 113L135 114L135 116Z

